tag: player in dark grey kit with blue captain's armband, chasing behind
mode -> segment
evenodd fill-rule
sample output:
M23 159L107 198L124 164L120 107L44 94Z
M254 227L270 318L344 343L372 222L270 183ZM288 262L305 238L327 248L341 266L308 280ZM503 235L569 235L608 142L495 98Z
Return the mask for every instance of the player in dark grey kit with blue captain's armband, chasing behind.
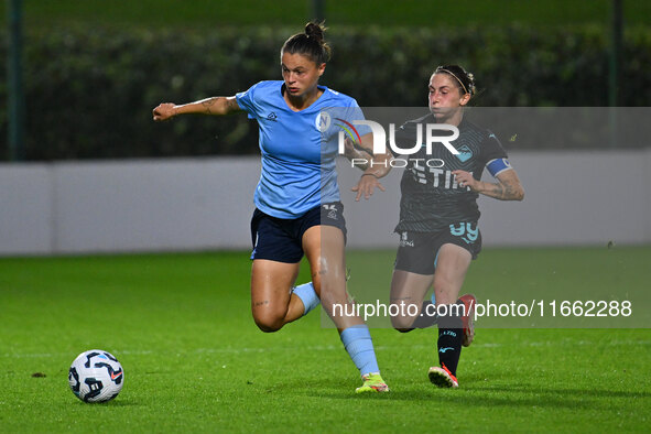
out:
M438 387L457 388L462 346L470 345L474 338L475 296L457 297L470 261L481 250L477 197L482 194L501 200L522 200L524 191L496 135L464 119L464 107L475 94L473 75L458 65L440 66L430 78L428 89L430 113L404 123L395 133L395 143L411 149L419 128L425 131L427 123L446 123L458 128L459 137L451 142L458 154L434 145L431 154L422 148L409 155L410 165L401 181L400 221L395 227L400 245L391 281L391 303L422 306L419 313L424 316L405 313L393 317L392 324L400 332L433 325L436 317L427 306L432 305L423 303L433 285L440 313L440 366L430 368L428 377ZM368 158L360 153L356 156ZM438 164L430 167L423 163L430 159L437 159ZM484 169L497 183L480 181ZM380 186L378 178L389 170L390 165L387 169L380 165L367 171L354 191L368 197ZM446 308L441 308L443 305Z

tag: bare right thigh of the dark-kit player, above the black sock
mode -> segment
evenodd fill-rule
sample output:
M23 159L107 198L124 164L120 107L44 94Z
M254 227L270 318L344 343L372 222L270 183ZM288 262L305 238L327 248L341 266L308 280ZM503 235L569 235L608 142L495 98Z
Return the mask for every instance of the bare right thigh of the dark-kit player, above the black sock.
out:
M441 247L434 272L437 304L456 302L471 261L473 254L460 246L445 243Z

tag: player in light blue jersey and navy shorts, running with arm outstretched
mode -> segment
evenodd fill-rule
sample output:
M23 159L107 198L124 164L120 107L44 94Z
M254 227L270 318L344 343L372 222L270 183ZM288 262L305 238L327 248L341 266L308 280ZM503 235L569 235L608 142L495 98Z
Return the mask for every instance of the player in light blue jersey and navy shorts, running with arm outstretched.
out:
M156 121L177 115L228 115L256 119L262 173L251 220L251 310L263 332L275 332L323 303L364 384L356 392L387 392L368 327L358 316L332 315L346 295L343 205L335 172L337 132L327 109L359 113L355 99L318 86L329 46L325 28L308 23L281 50L283 80L260 82L234 97L215 97L153 110ZM324 111L325 110L325 111ZM323 115L323 116L322 116ZM340 115L341 116L341 115ZM329 123L329 126L328 126ZM312 282L292 287L305 254Z

